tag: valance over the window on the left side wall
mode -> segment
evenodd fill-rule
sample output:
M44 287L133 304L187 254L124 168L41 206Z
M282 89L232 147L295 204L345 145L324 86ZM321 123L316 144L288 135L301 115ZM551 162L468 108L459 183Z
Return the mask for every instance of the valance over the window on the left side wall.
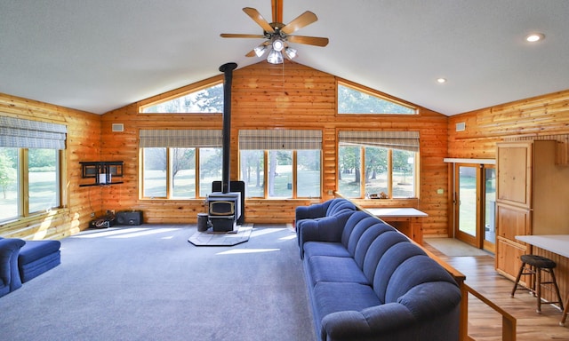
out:
M65 149L67 126L0 116L0 147Z

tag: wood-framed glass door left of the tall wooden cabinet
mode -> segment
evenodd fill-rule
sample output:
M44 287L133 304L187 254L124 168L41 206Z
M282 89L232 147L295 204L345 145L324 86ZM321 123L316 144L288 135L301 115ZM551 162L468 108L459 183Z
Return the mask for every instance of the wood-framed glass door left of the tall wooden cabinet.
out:
M455 164L454 236L494 252L496 170L488 164Z

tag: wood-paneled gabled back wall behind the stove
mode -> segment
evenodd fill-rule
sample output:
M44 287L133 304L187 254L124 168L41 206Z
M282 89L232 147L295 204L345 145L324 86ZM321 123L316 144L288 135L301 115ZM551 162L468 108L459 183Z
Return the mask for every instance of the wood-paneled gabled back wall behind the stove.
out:
M211 82L213 77L205 82ZM236 179L237 136L241 129L320 129L323 131L323 200L336 190L337 136L342 129L420 131L421 199L382 202L385 205L416 207L429 213L423 220L424 234L446 235L445 194L447 186L448 118L419 107L420 115L337 115L336 80L333 75L300 64L271 65L263 61L237 68L233 74L231 126L231 178ZM101 154L105 161L124 161L124 184L103 189L102 210L143 210L148 223L192 223L204 211L203 200L140 200L138 194L138 134L141 128L220 129L221 115L145 115L140 105L188 91L205 82L157 95L102 117ZM382 94L386 95L386 94ZM405 101L397 99L398 101ZM124 132L112 132L112 123L124 123ZM246 221L292 223L294 208L317 200L247 200Z

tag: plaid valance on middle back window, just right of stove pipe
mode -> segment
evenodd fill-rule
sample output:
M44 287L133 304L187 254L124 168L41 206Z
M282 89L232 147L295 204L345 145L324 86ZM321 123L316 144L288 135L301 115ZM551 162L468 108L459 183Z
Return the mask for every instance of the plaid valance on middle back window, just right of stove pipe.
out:
M242 130L241 150L322 149L322 131Z

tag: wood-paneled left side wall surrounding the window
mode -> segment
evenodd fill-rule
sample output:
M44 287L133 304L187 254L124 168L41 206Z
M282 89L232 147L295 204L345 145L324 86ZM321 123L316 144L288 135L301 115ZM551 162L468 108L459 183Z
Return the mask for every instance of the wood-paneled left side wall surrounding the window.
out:
M62 238L88 226L92 212L100 212L101 187L80 187L80 161L100 158L100 115L53 106L0 93L0 115L60 123L68 127L63 174L63 207L0 225L0 236L38 240Z

